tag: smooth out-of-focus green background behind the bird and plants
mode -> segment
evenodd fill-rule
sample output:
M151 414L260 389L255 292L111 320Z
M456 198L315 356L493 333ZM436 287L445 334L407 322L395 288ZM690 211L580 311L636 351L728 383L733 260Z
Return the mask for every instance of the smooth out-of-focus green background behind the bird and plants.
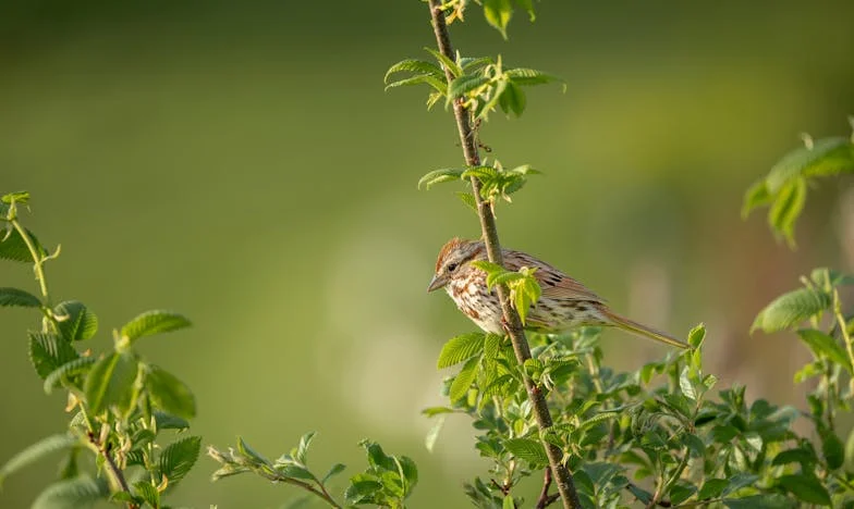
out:
M568 82L528 89L522 119L483 129L491 157L545 173L498 209L503 245L678 336L706 322L719 386L800 404L797 339L747 331L813 266L854 268L851 182L810 191L794 252L764 212L739 212L801 132L850 134L854 2L537 9L509 42L476 9L452 27L465 54ZM474 327L425 288L448 238L479 235L460 188L415 188L462 163L451 115L426 112L425 89L383 92L386 69L424 58L431 37L416 0L0 3L0 191L32 193L30 228L62 245L52 295L100 318L91 348L141 311L183 312L192 330L141 348L195 390L205 444L240 434L274 458L317 430L310 463L351 475L370 437L417 461L415 508L465 507L462 482L484 467L463 418L432 454L423 445L419 410L442 401L439 348ZM35 288L11 263L0 284ZM35 326L30 312L0 315L0 461L66 423L27 361ZM667 351L618 332L605 348L621 369ZM210 484L215 467L199 459L173 502L301 495L249 476ZM27 507L54 472L10 477L0 507Z

